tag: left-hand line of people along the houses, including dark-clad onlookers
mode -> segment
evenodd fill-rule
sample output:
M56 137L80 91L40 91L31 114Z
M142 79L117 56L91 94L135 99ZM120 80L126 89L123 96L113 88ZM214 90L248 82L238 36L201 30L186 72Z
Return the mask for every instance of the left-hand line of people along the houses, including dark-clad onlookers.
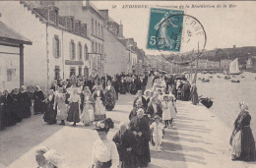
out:
M105 110L112 110L118 94L145 89L148 76L142 74L117 74L101 78L71 77L65 81L54 81L47 92L39 85L28 91L23 85L12 92L0 92L0 130L14 126L24 118L43 114L44 122L52 125L57 121L73 122L73 126L83 122L85 126L105 118Z

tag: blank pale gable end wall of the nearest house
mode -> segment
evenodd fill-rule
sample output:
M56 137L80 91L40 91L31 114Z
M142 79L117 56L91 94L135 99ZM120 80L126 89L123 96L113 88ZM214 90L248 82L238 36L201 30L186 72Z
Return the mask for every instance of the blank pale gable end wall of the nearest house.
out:
M25 85L47 85L46 25L42 24L32 11L20 1L0 1L0 20L32 40L24 47Z

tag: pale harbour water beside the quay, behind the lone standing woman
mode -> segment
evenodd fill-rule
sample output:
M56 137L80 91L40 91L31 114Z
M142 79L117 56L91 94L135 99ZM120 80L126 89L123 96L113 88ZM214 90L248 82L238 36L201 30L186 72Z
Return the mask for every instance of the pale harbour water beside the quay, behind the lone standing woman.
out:
M210 79L210 76L213 79ZM245 78L241 78L242 76ZM239 102L247 102L249 114L252 117L251 129L256 140L256 74L245 72L230 77L230 80L224 80L223 74L198 74L198 78L210 79L210 83L202 83L197 79L198 95L213 98L214 104L210 111L216 114L231 129L233 129L233 123L240 112ZM231 83L231 80L239 80L240 83Z

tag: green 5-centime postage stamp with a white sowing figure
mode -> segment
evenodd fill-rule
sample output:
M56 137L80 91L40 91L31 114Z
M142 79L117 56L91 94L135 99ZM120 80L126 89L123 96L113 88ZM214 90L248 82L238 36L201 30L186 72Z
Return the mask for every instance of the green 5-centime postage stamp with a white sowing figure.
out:
M151 9L148 49L180 52L184 11Z

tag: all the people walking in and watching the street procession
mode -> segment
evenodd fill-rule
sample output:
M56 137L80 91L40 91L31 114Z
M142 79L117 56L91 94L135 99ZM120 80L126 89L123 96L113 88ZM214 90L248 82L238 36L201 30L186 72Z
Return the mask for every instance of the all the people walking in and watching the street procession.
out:
M153 82L151 87L149 80ZM107 118L106 111L115 108L118 94L127 93L134 95L131 112L127 114L129 122L121 122L110 140L107 134L116 126L112 119ZM89 79L73 76L66 81L54 81L47 94L39 85L34 87L33 92L28 91L26 86L15 88L11 93L7 90L0 92L0 129L31 117L32 111L34 115L43 114L43 121L49 125L58 123L66 126L67 122L73 127L77 127L78 123L84 126L95 124L94 130L99 139L93 146L92 167L148 167L151 147L159 152L164 149L164 130L171 131L175 123L177 100L190 100L193 105L199 101L196 84L190 84L180 75L156 71L153 74L122 73ZM255 141L250 129L248 105L242 102L239 107L241 112L234 122L230 138L232 160L255 160ZM48 164L57 167L58 163L50 158L51 155L59 158L54 150L45 147L38 149L35 154L38 166Z

